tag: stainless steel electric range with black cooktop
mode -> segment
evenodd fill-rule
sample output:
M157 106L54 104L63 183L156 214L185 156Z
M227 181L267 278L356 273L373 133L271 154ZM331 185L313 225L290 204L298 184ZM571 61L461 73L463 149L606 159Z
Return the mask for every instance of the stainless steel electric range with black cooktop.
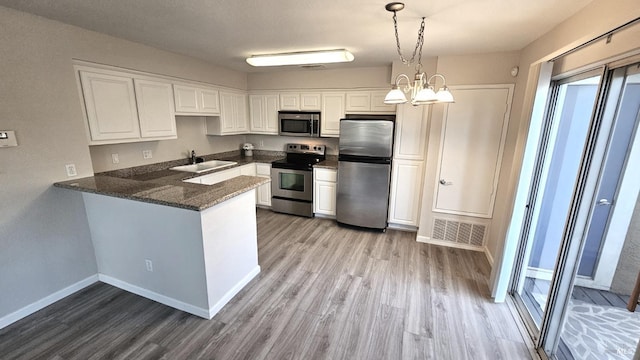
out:
M286 150L286 159L271 163L271 209L313 217L313 165L325 159L325 146L287 144Z

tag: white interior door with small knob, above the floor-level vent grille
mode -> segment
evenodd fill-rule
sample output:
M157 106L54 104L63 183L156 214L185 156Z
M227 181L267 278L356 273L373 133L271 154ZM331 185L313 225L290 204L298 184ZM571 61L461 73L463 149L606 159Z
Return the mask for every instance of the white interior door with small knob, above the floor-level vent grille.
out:
M433 211L491 218L513 85L451 87Z

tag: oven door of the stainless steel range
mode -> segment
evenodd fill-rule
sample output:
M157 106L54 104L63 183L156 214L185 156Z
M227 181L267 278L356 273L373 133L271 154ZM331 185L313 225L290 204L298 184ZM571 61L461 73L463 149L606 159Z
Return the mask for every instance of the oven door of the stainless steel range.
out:
M313 201L313 172L271 168L271 196Z

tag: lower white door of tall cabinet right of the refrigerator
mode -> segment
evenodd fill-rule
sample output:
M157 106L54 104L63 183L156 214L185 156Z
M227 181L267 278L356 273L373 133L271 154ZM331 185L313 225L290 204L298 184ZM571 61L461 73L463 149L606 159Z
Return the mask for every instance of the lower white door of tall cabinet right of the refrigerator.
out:
M423 161L393 160L389 223L418 226L423 173Z

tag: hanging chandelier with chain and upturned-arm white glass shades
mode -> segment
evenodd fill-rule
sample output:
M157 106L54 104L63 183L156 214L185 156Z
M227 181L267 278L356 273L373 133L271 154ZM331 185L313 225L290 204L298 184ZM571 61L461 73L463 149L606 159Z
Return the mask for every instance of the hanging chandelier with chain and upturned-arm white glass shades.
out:
M404 104L407 102L405 93L411 92L411 104L412 105L430 105L437 103L451 103L453 102L453 95L447 87L447 80L444 75L434 74L431 77L422 71L422 44L424 44L424 17L420 24L420 30L418 31L418 40L416 41L416 47L413 50L411 59L406 59L402 56L402 50L400 49L400 38L398 37L398 17L397 12L404 9L404 4L401 2L388 3L385 6L387 11L393 12L393 27L396 34L396 45L398 49L398 55L402 63L409 66L414 63L416 54L418 55L418 63L416 64L416 74L413 77L413 84L411 79L405 74L398 74L395 79L395 83L391 87L391 91L385 96L385 104ZM442 87L436 92L434 90L435 81L437 79L442 80ZM406 80L407 84L401 86L402 80ZM433 81L433 82L432 82Z

